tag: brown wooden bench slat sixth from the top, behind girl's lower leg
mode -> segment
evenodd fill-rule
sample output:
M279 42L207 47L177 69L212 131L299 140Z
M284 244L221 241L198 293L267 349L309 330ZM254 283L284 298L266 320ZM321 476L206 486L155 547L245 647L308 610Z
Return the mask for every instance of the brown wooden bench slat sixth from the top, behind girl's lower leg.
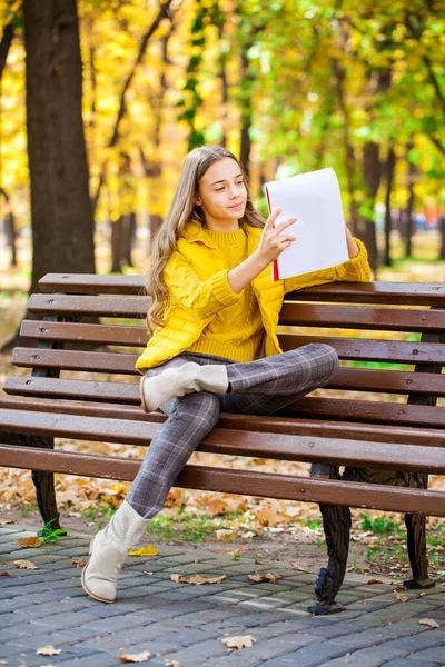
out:
M37 412L63 412L110 419L134 419L162 424L167 417L160 412L144 412L140 407L119 404L97 404L87 401L51 400L46 398L22 398L2 396L0 408L12 410L32 410ZM307 435L324 438L342 437L356 440L398 442L400 445L445 446L445 430L419 427L387 426L348 421L325 421L281 415L257 416L221 412L218 428L250 430L268 434Z

